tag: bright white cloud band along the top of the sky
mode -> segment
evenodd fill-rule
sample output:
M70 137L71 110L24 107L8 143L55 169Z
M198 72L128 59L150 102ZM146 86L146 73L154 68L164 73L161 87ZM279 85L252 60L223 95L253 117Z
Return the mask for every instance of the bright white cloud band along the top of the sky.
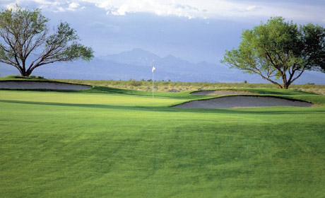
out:
M293 1L239 1L239 0L0 0L3 8L14 4L30 5L47 11L81 11L90 6L102 8L107 15L125 16L128 13L154 13L158 16L179 16L186 18L232 18L261 20L270 16L283 16L289 20L317 21L324 23L325 6L301 0ZM318 2L318 1L317 1ZM30 6L29 6L30 7Z

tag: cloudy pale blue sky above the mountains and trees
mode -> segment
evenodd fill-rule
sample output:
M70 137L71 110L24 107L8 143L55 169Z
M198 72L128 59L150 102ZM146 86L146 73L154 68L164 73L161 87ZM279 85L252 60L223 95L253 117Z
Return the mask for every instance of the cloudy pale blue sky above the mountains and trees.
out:
M0 0L0 8L41 8L51 26L74 28L95 56L142 48L190 62L219 63L242 30L272 16L325 26L325 0Z

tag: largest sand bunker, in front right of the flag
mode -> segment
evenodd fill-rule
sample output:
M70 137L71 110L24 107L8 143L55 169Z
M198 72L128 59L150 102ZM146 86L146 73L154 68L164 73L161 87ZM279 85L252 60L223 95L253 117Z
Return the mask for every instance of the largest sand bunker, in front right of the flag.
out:
M295 106L295 107L317 107L312 103L287 100L271 96L250 96L250 95L233 95L210 100L194 100L174 107L179 108L245 108L245 107L271 107L271 106Z

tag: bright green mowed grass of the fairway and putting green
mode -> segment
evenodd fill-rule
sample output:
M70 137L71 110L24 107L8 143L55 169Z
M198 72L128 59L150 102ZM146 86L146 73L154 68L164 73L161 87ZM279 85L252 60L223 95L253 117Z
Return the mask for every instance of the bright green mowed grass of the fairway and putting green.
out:
M325 107L177 109L206 97L150 94L0 91L1 197L325 196Z

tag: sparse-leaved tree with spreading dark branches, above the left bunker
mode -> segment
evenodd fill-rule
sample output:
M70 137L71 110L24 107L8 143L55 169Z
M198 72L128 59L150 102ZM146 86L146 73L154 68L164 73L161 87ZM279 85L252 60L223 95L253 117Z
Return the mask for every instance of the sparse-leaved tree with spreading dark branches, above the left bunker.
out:
M39 66L76 59L89 61L93 50L78 43L76 31L60 23L49 31L49 19L40 9L15 8L0 12L0 62L16 67L21 76L30 76Z

